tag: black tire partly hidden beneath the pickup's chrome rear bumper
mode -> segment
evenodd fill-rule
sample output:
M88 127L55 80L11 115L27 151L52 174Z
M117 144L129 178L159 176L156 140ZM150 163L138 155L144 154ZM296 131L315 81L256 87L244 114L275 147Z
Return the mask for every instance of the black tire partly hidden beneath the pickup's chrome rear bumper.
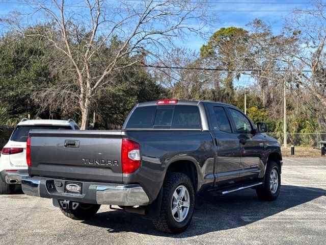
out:
M79 203L76 209L63 209L60 208L61 212L68 218L77 220L86 220L92 218L101 205L99 204L89 204L89 203Z

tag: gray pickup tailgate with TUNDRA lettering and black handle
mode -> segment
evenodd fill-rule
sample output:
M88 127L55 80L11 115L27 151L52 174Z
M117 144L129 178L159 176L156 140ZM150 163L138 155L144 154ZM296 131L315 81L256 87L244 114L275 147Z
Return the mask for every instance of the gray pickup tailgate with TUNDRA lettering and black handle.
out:
M121 131L31 130L31 176L122 182Z

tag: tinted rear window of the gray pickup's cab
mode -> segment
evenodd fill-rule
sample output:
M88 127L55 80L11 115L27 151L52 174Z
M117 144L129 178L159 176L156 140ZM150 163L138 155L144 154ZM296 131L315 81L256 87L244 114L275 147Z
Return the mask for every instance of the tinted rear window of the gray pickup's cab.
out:
M138 107L131 114L127 129L201 129L197 106L162 105Z

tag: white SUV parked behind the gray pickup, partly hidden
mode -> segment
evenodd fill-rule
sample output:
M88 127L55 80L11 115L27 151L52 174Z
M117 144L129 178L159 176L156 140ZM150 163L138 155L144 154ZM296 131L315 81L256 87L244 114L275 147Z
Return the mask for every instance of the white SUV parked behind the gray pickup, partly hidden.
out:
M0 194L11 194L21 177L28 176L26 141L31 129L78 130L72 119L29 120L21 119L0 156Z

